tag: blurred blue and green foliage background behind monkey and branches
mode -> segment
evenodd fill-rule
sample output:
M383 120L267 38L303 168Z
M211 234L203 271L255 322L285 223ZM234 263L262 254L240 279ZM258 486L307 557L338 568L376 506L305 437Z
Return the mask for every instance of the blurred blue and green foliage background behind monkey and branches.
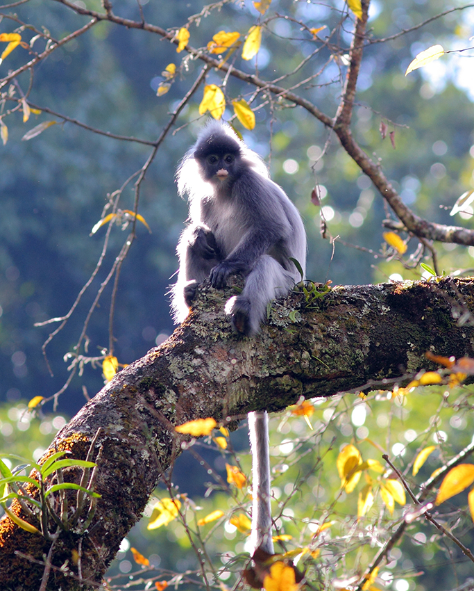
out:
M101 10L95 0L78 0L76 4ZM186 3L149 0L141 4L146 20L163 28L183 26L189 15L203 8L203 3L196 0ZM453 6L462 3L455 2ZM386 38L445 9L446 3L441 0L400 0L396 4L373 0L369 24L375 38ZM272 13L289 15L310 27L326 25L325 31L337 25L341 10L344 10L342 0L326 3L273 0L271 4ZM37 28L46 26L55 38L62 38L87 22L85 17L54 1L31 0L17 6L15 11L20 19ZM131 19L140 18L139 7L134 2L117 0L114 11ZM193 47L205 46L222 29L244 33L256 19L251 1L225 4L221 10L201 19L199 26L190 27L189 43ZM473 24L474 9L470 8L452 12L391 41L369 44L364 51L353 116L357 141L366 152L380 159L380 165L403 200L418 215L466 227L473 224L471 216L462 213L453 220L449 211L459 195L474 188L472 58L468 52L449 54L407 77L404 72L412 58L431 44L441 43L446 50L470 47ZM13 28L14 23L3 19L1 32ZM320 33L321 37L325 31ZM351 31L350 22L345 21L332 39L333 43L339 42L343 52L350 44ZM297 22L276 18L264 33L256 65L262 77L271 79L296 67L315 47L314 40L301 31ZM24 49L19 47L4 60L0 65L2 75L24 63L22 52ZM195 61L187 60L186 68L169 92L157 97L164 67L169 63L179 65L183 56L184 53L176 54L176 47L158 35L100 23L90 33L53 52L37 67L29 100L39 108L48 107L103 131L153 141L166 124L168 113L176 108L201 69ZM328 49L291 76L287 86L314 74L326 62L328 67L321 76L298 92L332 116L339 101L345 67L340 60L331 58ZM237 65L242 70L255 71L255 60L245 63L239 58ZM28 74L23 74L19 82L25 90ZM221 74L210 72L208 83L219 82ZM251 92L251 88L230 79L230 98L246 96L246 92ZM137 226L138 238L121 270L114 327L115 355L121 363L141 357L173 330L166 293L177 268L174 250L187 216L185 202L176 195L173 171L205 120L198 117L201 96L198 90L180 115L178 131L160 148L142 184L139 213L148 222L152 234L143 225ZM269 161L272 178L282 185L301 211L309 238L307 276L310 279L363 284L387 281L389 277L421 277L423 270L419 266L409 270L394 258L387 261L380 256L386 248L382 220L387 212L382 200L375 194L371 181L359 173L355 163L321 124L306 111L288 108L278 101L273 109L263 106L255 114L254 131L248 132L239 124L236 127L248 145ZM226 112L224 118L230 115ZM38 328L34 323L62 316L69 310L99 258L105 228L93 236L90 231L101 217L108 194L139 170L150 153L150 147L100 136L69 122L53 125L40 136L22 141L24 133L35 124L53 119L60 120L47 113L32 115L26 124L21 113L4 118L9 138L0 147L0 400L5 403L0 412L0 449L34 458L39 457L40 450L46 448L62 426L65 420L62 417L67 419L85 403L83 386L93 396L103 385L101 369L87 366L83 376L76 376L60 397L60 415L48 414L52 407L46 406L43 409L46 414L39 418L25 415L20 421L28 400L37 395L51 396L67 379L63 357L76 343L96 289L117 256L127 230L112 228L106 265L65 330L49 344L52 377L41 346L51 327L56 325ZM388 137L382 139L381 121L387 124L388 131L394 132L395 149ZM321 157L323 149L325 153ZM357 248L336 242L333 252L332 243L321 238L320 208L310 200L315 183L319 184L321 209L330 234ZM121 195L120 207L133 209L132 184ZM416 248L415 241L412 242L405 260ZM445 244L435 248L439 266L446 273L472 270L473 247ZM91 355L95 352L99 355L108 346L110 291L109 286L87 331ZM386 394L374 394L366 403L358 399L354 402L352 397L319 400L314 431L301 418L291 417L286 422L281 422L282 417L273 419L275 428L280 424L279 430L273 429L271 435L274 461L285 467L276 475L275 504L285 503L281 526L285 533L294 536L288 548L293 543L307 543L316 533L321 515L335 520L330 530L321 534L328 544L312 565L315 572L320 571L317 576L321 578L328 578L328 573L332 573L326 583L344 572L361 572L378 549L376 536L370 537L371 531L387 528L391 521L378 499L369 517L355 524L357 495L339 491L335 459L340 446L351 440L361 441L359 448L364 459L379 457L380 453L366 439L369 437L398 456L398 465L403 469L413 460L418 448L443 441L439 455L433 454L423 469L423 476L428 477L441 461L468 444L473 432L472 413L469 414L471 390L451 391L449 396L444 396L443 391L418 389L403 403L387 400ZM362 414L357 419L357 412L361 412L357 409L362 405L366 410L363 421ZM441 439L438 431L444 433ZM250 458L245 431L240 428L231 439L248 473ZM393 446L397 444L395 453ZM195 448L212 469L225 475L224 452L205 442L199 442ZM208 490L204 483L212 480L205 465L185 453L178 460L172 478L180 493L189 494L203 506L198 517L214 508L230 510L237 507L237 501L248 501L243 493L236 500L227 490L199 500ZM418 484L422 482L420 476L416 477ZM161 493L167 494L162 490L159 496ZM453 526L457 524L457 535L467 545L470 540L472 547L472 522L466 517L466 499L456 497L451 505L452 513L446 519ZM400 517L400 511L396 508L395 519ZM225 523L215 527L206 551L227 553L221 559L224 571L221 580L228 579L231 584L230 572L242 568L239 553L244 551L245 537ZM359 541L355 542L357 536ZM146 556L153 556L154 563L159 563L164 572L196 568L196 555L178 521L167 528L147 532L144 520L130 540L124 542L124 552L119 554L112 574L121 572L129 576L129 570L139 569L127 552L130 543ZM346 551L348 547L350 551ZM402 546L393 551L393 557L382 581L395 591L423 591L434 584L439 589L454 588L472 572L472 563L466 562L452 544L434 537L432 527L418 522ZM319 563L327 568L323 571ZM378 581L375 586L380 585Z

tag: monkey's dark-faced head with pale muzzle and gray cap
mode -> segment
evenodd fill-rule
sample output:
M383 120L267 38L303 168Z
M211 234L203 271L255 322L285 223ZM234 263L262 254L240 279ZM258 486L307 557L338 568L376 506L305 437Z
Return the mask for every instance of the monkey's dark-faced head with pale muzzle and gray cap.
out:
M242 150L223 126L213 126L212 131L198 141L194 158L203 180L217 186L228 186L239 176Z

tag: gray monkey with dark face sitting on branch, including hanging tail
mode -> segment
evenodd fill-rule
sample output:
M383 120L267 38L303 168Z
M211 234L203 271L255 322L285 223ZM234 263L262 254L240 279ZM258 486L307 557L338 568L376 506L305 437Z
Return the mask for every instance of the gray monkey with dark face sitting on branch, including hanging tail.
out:
M245 277L242 293L226 312L235 330L253 336L266 306L301 280L291 258L305 271L306 234L298 210L271 181L264 162L223 122L210 122L180 163L180 195L189 195L189 225L178 243L178 281L171 289L173 316L182 322L196 287L210 278L226 286L229 275ZM270 512L268 416L248 419L253 455L251 540L273 553Z

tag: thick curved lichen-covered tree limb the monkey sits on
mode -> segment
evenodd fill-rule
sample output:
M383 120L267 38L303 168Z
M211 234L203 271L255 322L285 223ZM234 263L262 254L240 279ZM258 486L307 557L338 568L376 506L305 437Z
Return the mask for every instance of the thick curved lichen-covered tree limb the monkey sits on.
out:
M428 350L474 357L472 280L322 292L277 300L269 323L248 339L232 333L221 312L230 290L201 288L185 323L162 346L121 370L58 432L40 460L58 450L84 460L99 430L93 458L100 450L95 490L101 499L92 523L80 532L84 510L76 528L47 542L3 517L1 588L40 588L45 556L46 589L98 585L180 453L183 437L173 430L176 424L212 416L226 425L252 410L282 410L302 396L403 385L416 371L433 367ZM65 469L65 480L80 479L80 469ZM69 499L75 498L74 492ZM16 501L12 510L39 527Z

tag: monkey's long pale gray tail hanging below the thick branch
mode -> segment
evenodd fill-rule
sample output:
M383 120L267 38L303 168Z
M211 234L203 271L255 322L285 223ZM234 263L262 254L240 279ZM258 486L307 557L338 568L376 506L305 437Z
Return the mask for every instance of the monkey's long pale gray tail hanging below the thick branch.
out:
M271 539L271 493L269 417L265 411L248 414L248 435L252 452L252 530L253 551L273 554Z

